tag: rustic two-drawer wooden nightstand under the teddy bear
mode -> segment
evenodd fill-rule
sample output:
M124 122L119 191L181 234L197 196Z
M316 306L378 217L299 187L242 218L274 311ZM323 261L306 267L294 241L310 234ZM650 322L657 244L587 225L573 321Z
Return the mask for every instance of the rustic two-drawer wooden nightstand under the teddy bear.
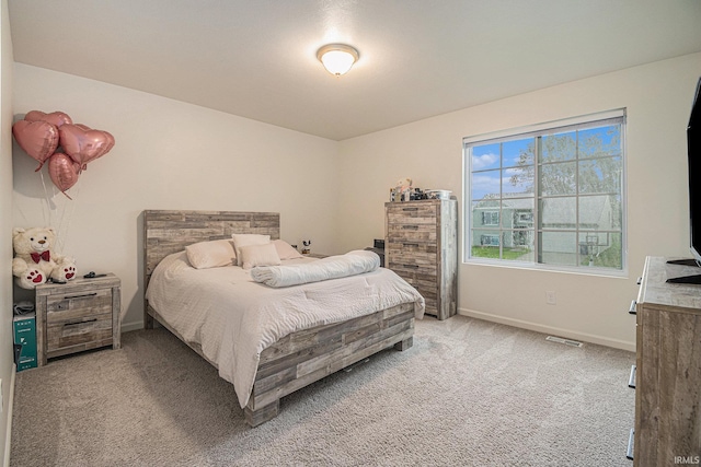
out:
M115 275L35 289L36 361L112 346L118 349L122 282Z

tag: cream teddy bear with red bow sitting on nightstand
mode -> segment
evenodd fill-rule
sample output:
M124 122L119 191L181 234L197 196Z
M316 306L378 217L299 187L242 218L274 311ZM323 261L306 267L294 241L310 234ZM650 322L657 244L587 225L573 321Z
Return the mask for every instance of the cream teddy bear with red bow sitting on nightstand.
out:
M53 252L55 242L53 227L13 229L12 275L18 285L34 289L49 279L66 282L76 277L76 261Z

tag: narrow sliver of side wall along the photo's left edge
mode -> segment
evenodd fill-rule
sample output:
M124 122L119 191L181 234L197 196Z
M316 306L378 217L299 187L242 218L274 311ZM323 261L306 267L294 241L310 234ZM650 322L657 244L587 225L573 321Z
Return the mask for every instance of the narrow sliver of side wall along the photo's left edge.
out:
M0 413L0 459L10 456L10 394L14 375L12 352L12 38L8 1L0 7L0 378L2 413ZM5 444L7 442L7 444Z

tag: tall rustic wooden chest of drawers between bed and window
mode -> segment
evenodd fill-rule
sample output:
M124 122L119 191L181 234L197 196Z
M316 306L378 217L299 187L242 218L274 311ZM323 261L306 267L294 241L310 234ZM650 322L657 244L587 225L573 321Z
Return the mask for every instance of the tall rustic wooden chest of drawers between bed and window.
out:
M426 313L446 319L458 311L458 201L384 203L384 266L426 300Z

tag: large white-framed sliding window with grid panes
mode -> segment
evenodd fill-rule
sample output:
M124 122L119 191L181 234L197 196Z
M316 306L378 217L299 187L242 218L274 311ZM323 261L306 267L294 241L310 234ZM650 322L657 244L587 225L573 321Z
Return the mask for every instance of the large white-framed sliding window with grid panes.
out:
M466 138L468 261L625 265L625 112Z

